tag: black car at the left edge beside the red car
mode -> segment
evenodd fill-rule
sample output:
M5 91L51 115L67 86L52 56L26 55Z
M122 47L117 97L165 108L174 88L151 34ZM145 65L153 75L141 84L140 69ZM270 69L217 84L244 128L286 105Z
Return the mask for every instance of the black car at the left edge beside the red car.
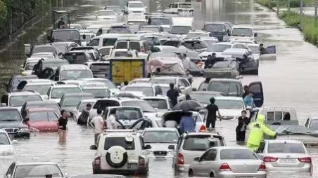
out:
M0 128L6 130L11 138L30 137L30 130L23 123L20 112L13 107L0 107Z

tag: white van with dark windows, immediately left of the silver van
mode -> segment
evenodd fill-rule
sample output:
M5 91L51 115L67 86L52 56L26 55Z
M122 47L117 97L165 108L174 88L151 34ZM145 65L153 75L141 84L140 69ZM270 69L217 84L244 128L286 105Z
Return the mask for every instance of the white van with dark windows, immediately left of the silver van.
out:
M87 46L94 48L101 48L104 46L114 46L117 38L122 36L121 34L101 34L100 36L95 36Z

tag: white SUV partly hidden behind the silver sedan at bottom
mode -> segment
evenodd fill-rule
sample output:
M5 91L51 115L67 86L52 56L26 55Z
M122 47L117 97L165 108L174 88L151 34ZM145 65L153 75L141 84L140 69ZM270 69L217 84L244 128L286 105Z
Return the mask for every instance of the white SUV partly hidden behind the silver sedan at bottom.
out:
M177 148L173 145L169 149L175 151L173 165L175 171L187 171L193 159L201 156L205 150L214 146L225 146L222 136L215 132L191 132L179 137Z

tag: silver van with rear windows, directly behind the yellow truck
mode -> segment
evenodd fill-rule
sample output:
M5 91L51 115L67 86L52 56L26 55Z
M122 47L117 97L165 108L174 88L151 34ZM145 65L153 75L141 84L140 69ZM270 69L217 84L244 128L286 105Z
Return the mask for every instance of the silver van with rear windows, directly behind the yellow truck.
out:
M150 53L150 48L146 38L140 34L126 34L118 37L115 42L115 49L132 49L139 53Z

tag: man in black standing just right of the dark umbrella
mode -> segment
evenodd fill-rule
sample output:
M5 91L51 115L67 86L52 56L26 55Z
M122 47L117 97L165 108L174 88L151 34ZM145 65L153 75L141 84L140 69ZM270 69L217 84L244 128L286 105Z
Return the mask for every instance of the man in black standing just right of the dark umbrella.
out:
M205 109L208 110L208 116L206 117L206 128L210 128L210 125L212 127L212 129L215 128L215 121L217 120L217 114L220 117L220 121L221 121L221 114L219 111L219 107L217 107L215 103L215 98L211 97L210 98L210 104L208 104L208 106L205 107Z

